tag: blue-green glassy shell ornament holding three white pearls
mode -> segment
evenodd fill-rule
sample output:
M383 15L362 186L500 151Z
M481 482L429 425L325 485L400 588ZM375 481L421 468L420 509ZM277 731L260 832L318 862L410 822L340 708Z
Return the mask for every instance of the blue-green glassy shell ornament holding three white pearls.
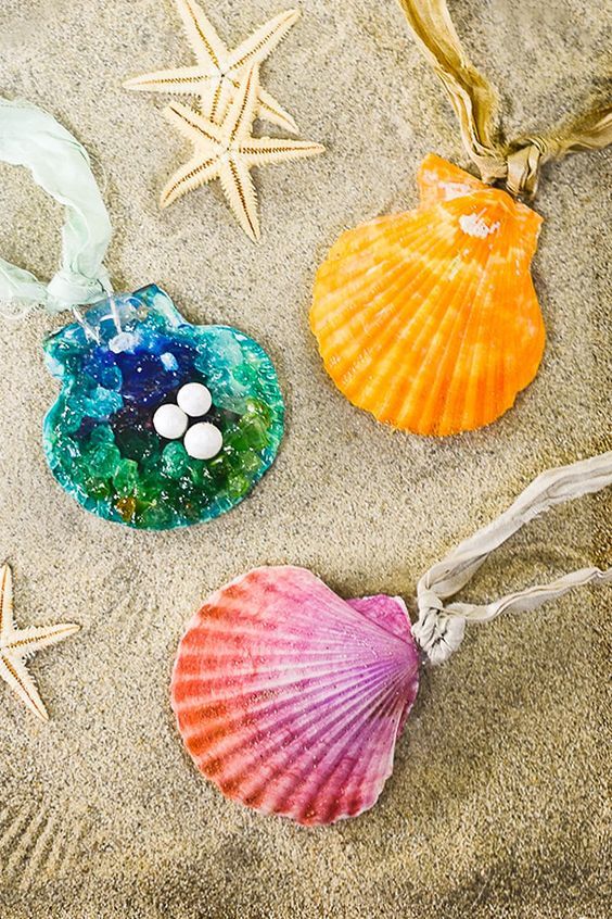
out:
M284 408L266 352L229 326L187 323L155 285L94 304L44 353L62 383L44 419L49 466L106 520L155 530L211 520L275 460ZM186 404L193 391L205 401Z

